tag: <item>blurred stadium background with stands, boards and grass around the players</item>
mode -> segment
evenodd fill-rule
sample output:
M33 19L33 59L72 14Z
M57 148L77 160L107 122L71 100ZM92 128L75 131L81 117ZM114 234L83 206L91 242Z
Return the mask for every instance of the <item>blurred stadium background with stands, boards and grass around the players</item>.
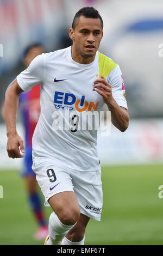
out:
M46 52L70 46L73 16L87 5L103 17L99 50L121 67L130 125L124 133L111 127L108 137L99 132L104 207L101 222L90 221L85 244L163 245L162 0L1 0L0 102L24 69L24 48L34 42ZM17 127L23 135L19 115ZM0 245L41 245L32 238L36 223L18 174L22 162L8 159L2 118L0 130Z

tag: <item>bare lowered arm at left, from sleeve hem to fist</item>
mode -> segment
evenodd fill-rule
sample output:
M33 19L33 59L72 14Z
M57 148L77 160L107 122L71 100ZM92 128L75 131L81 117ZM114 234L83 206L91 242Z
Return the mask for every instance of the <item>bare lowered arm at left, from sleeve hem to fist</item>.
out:
M16 131L16 112L18 108L19 96L23 92L17 83L17 79L12 81L6 92L5 92L5 102L4 102L4 118L7 126L7 151L8 156L14 158L20 158L24 155L24 145L22 138L18 135Z

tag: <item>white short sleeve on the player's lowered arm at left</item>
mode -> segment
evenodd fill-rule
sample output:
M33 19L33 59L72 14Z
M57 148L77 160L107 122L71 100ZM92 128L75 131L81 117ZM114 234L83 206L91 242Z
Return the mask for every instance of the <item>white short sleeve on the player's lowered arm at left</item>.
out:
M28 92L37 84L42 84L45 74L45 53L35 57L28 68L16 78L22 90Z

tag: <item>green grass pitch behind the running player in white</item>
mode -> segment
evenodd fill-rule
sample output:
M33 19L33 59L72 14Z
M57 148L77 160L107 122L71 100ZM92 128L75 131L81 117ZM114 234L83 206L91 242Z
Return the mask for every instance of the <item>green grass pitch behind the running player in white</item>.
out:
M101 222L89 222L85 245L163 245L163 166L103 167L102 181ZM32 237L37 225L19 174L0 172L0 185L0 245L42 245Z

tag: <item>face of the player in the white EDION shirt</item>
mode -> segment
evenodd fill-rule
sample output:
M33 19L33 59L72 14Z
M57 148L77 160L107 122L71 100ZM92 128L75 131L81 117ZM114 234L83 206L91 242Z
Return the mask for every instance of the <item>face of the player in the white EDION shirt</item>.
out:
M85 58L95 57L103 37L101 20L80 16L76 27L70 29L73 48L80 56Z

